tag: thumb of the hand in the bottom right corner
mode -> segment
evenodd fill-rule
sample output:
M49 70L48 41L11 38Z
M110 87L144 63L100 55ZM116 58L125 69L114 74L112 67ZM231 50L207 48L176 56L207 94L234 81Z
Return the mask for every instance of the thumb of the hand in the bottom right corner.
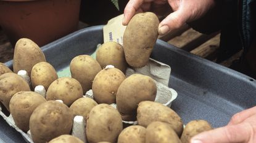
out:
M197 134L192 137L191 143L235 143L247 142L252 126L249 123L224 126Z

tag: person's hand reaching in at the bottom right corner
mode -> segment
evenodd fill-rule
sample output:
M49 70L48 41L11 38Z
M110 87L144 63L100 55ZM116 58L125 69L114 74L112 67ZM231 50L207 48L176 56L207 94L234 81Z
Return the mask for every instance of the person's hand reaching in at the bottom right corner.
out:
M256 106L235 114L228 125L192 137L191 143L255 143Z

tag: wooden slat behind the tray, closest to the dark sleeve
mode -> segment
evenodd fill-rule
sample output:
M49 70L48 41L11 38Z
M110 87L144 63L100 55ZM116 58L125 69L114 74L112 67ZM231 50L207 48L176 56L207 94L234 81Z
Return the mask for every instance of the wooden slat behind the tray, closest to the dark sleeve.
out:
M195 48L191 51L191 53L198 55L202 58L214 59L214 56L217 56L217 49L219 48L220 44L220 34L213 37L204 44L200 45L199 47Z

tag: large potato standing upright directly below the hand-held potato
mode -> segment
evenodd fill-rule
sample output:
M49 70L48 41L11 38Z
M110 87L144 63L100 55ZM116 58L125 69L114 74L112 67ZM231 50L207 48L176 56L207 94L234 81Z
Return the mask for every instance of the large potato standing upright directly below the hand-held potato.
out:
M157 86L154 80L142 74L133 74L117 90L117 109L121 115L136 114L141 101L155 101Z

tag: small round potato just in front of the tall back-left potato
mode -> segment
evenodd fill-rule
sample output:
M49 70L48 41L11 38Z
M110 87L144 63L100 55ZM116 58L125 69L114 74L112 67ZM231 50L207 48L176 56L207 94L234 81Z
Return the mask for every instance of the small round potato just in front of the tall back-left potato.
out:
M58 79L57 72L51 64L44 61L35 64L31 70L31 83L33 88L37 85L43 85L47 90L56 79Z

